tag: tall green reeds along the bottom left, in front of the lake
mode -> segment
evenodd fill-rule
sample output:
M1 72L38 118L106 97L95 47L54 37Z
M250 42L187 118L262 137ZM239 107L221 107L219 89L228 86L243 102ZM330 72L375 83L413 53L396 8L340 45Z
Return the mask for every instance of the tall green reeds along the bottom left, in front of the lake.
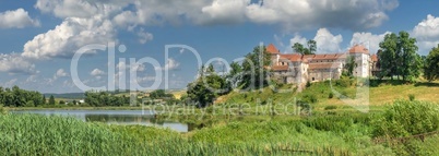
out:
M3 155L347 155L348 151L274 140L204 142L170 130L85 123L38 115L0 116ZM286 127L283 131L286 132ZM216 129L212 129L215 131ZM271 134L276 132L276 129ZM203 134L200 132L200 134ZM302 152L305 151L305 152Z

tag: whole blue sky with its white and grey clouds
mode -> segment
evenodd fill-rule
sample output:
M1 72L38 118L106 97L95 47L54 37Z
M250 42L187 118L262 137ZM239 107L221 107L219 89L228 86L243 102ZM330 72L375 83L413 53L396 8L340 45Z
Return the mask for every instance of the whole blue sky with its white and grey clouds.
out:
M378 50L385 33L406 31L419 53L439 44L438 1L398 0L20 0L0 2L0 85L43 93L82 92L130 83L150 87L157 73L169 72L169 88L183 88L197 75L198 60L232 62L260 43L292 52L294 43L315 39L318 52L343 52L354 44ZM108 83L108 50L88 51L72 76L72 57L80 48L116 43L116 69L126 69L124 85ZM120 45L126 47L119 52ZM152 58L159 65L134 65L129 59ZM119 59L127 61L119 62ZM217 69L222 70L222 65ZM137 76L129 76L129 71ZM123 72L116 70L116 82ZM130 81L131 80L131 81ZM165 79L157 87L165 87Z

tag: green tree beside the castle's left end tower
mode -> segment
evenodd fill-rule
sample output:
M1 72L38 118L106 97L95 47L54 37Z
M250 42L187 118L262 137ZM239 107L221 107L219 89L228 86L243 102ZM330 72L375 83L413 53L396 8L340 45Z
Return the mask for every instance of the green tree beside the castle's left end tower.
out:
M270 53L266 52L264 46L257 46L253 51L246 56L242 62L242 81L244 88L257 89L268 84L268 74L270 65Z

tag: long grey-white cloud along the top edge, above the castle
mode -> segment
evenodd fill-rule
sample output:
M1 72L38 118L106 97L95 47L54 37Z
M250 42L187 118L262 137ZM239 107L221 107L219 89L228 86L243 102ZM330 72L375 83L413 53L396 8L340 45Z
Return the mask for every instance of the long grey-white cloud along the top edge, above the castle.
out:
M250 21L281 24L290 31L316 27L366 29L388 20L385 11L399 5L398 0L264 0L247 7Z

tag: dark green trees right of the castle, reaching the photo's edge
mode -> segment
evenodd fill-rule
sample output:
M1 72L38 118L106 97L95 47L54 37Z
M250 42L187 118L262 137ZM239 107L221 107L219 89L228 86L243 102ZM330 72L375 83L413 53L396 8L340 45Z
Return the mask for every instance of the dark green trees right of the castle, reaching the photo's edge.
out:
M410 37L407 32L391 33L384 36L377 52L379 61L378 77L390 77L414 82L424 74L428 81L439 76L439 45L434 47L427 57L417 53L416 38Z

